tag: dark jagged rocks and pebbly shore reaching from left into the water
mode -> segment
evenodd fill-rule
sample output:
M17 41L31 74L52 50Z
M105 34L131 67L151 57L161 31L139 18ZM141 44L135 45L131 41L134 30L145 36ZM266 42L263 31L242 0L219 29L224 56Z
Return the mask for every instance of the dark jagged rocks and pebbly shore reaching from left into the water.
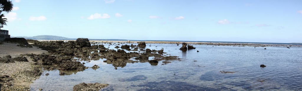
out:
M112 66L117 69L117 67L125 67L127 63L145 63L149 62L151 65L158 65L158 61L169 61L169 60L180 60L176 56L164 56L164 50L143 50L145 52L126 52L126 51L138 51L138 47L146 47L145 42L139 42L138 45L124 45L124 43L108 43L110 45L116 45L126 50L112 50L105 48L102 42L90 42L87 38L78 38L76 41L37 41L37 40L24 40L24 39L10 39L6 43L16 43L17 45L23 45L18 47L38 48L39 50L46 50L47 53L40 54L16 54L13 58L10 55L1 56L0 67L6 68L5 71L12 72L8 66L19 65L16 67L19 70L16 73L1 72L1 87L6 90L29 90L29 84L33 80L37 79L42 74L42 67L44 70L60 70L60 74L64 75L64 72L68 71L83 71L88 69L84 64L78 60L88 61L90 60L104 60L105 63L112 64ZM91 45L98 44L98 45ZM5 52L4 52L5 53ZM153 60L149 60L149 57L155 57ZM76 58L76 59L75 59ZM130 58L135 58L135 60L130 60ZM27 63L19 63L27 62ZM27 64L27 66L23 66ZM22 68L22 66L25 68ZM10 69L8 69L10 68ZM97 69L97 66L92 67L92 69ZM61 72L62 71L62 72ZM47 74L49 75L49 74ZM24 77L25 79L20 79ZM20 81L21 80L21 81ZM28 85L19 87L17 83L27 82ZM43 88L41 88L43 89Z

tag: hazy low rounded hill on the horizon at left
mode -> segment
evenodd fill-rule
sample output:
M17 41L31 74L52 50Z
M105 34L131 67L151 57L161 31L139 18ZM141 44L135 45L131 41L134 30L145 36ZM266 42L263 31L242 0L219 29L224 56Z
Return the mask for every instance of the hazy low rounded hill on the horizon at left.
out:
M23 37L23 36L11 36L11 37ZM71 39L67 37L53 36L53 35L39 35L39 36L24 37L24 38L25 39Z

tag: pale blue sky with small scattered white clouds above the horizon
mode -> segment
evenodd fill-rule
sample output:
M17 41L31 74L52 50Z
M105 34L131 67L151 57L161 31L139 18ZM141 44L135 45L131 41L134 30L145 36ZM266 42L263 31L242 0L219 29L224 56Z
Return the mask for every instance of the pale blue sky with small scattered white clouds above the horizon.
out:
M13 0L11 36L302 43L302 0Z

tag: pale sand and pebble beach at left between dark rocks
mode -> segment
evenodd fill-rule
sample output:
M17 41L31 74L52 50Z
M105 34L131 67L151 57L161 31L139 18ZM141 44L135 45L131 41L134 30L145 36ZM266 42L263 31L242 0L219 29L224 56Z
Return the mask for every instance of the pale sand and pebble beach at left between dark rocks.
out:
M27 48L19 47L17 44L4 43L0 45L0 57L10 55L12 58L20 56L20 54L43 54L46 50L38 49L37 47ZM0 76L9 76L4 79L8 83L2 85L2 90L22 90L29 91L29 86L32 81L39 78L40 75L34 74L34 71L42 72L42 68L35 65L30 57L27 57L28 62L0 63ZM11 85L11 86L10 86Z

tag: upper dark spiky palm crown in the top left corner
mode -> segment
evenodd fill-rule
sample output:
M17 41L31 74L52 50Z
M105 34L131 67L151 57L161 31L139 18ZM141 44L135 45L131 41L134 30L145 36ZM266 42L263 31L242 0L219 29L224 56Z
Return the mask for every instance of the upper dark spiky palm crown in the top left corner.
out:
M0 1L0 11L10 12L13 10L14 4L11 0L1 0Z

